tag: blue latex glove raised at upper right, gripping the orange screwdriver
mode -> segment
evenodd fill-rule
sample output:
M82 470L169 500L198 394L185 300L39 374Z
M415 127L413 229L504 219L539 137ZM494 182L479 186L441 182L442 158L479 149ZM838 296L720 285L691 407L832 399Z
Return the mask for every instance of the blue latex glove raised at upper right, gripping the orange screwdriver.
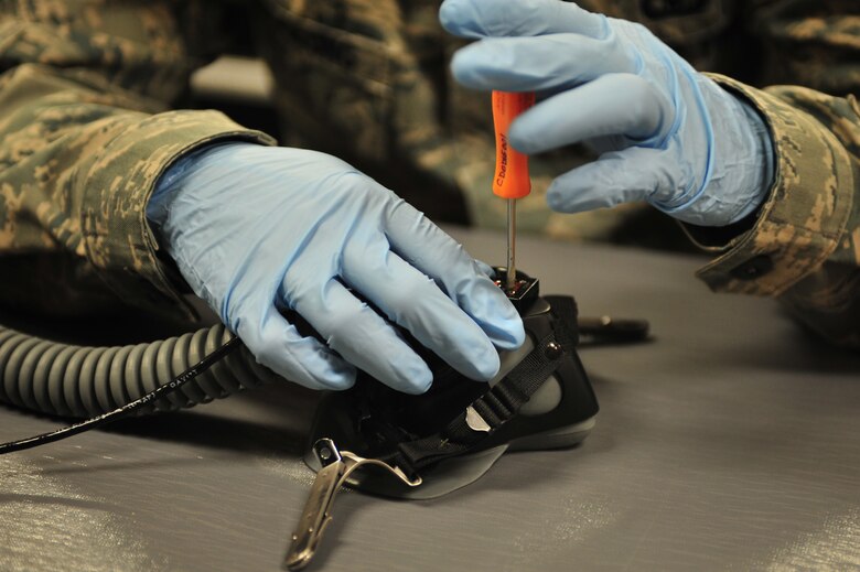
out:
M542 98L512 123L515 149L585 142L602 153L552 182L553 209L644 199L722 226L764 199L773 149L762 119L644 26L558 0L445 0L440 19L480 39L454 55L460 83Z

